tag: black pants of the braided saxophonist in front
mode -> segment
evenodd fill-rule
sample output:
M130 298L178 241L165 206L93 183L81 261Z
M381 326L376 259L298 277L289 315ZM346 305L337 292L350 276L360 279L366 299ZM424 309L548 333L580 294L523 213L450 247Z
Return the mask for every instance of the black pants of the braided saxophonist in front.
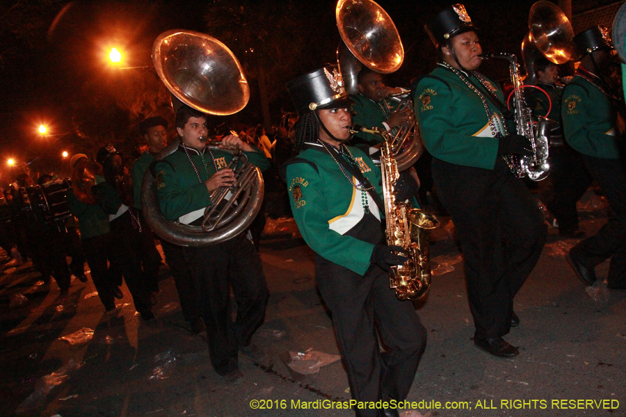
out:
M321 296L332 313L339 351L357 401L406 399L426 348L426 329L412 302L400 301L389 275L371 265L364 277L323 259L315 259ZM380 352L376 329L385 352ZM381 410L355 409L376 417Z

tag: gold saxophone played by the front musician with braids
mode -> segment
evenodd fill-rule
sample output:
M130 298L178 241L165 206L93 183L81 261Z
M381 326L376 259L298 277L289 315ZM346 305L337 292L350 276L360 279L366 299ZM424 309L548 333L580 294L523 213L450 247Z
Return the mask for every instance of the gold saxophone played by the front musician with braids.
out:
M405 263L392 266L390 287L395 289L399 300L421 300L431 288L430 231L439 226L439 220L431 213L411 208L408 202L396 202L394 187L400 172L391 134L384 129L365 129L355 124L351 131L371 133L384 139L380 145L380 171L383 173L387 245L401 246L408 253Z

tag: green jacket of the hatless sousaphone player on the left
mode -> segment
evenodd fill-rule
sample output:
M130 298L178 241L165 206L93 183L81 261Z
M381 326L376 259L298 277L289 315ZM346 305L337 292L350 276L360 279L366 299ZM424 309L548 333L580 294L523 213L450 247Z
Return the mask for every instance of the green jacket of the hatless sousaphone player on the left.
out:
M190 147L187 147L187 152L188 154L181 145L174 153L157 163L157 198L166 219L191 224L204 218L204 208L211 205L209 190L204 181L217 170L227 167L232 160L232 154L223 150L209 151L208 148L198 152ZM270 167L270 161L262 152L243 153L262 171ZM198 175L202 181L198 179Z

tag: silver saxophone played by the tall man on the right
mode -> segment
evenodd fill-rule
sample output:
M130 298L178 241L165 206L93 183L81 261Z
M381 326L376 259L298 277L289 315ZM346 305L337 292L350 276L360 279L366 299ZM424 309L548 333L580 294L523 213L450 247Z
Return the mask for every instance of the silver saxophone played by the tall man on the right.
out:
M513 54L482 54L482 58L502 58L508 60L508 70L511 73L511 83L515 93L515 124L517 124L517 134L525 136L531 143L533 155L520 156L517 163L509 157L507 162L512 165L511 170L517 178L528 176L533 181L541 181L548 176L550 165L548 162L548 140L552 120L545 117L538 117L536 123L533 122L531 109L528 108L524 96L522 95L522 80L520 76L520 65Z

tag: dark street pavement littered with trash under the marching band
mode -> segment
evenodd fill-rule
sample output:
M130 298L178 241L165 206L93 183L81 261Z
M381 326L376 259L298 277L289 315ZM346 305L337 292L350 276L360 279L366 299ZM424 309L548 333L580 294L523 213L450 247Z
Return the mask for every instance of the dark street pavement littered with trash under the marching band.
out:
M581 227L593 234L606 215L593 205L597 197L586 198L591 208L580 212ZM401 415L626 416L626 292L593 300L565 261L577 240L549 230L540 261L515 298L521 325L506 336L520 355L501 359L472 343L463 259L454 226L441 220L431 247L436 275L426 301L416 304L428 345L408 397L415 404ZM74 279L70 295L61 297L30 262L15 270L5 263L0 416L353 416L319 409L351 395L341 361L326 364L336 359L328 355L339 354L332 320L316 290L314 255L293 220L268 222L261 254L271 297L253 341L268 355L253 363L240 354L245 379L238 385L211 369L206 336L189 332L166 265L157 318L146 322L126 286L118 309L106 314L91 280ZM607 271L604 263L597 275ZM27 300L10 308L18 294ZM89 340L61 339L83 328L93 331ZM305 362L318 365L317 373L305 374L289 366L289 352L328 355Z

